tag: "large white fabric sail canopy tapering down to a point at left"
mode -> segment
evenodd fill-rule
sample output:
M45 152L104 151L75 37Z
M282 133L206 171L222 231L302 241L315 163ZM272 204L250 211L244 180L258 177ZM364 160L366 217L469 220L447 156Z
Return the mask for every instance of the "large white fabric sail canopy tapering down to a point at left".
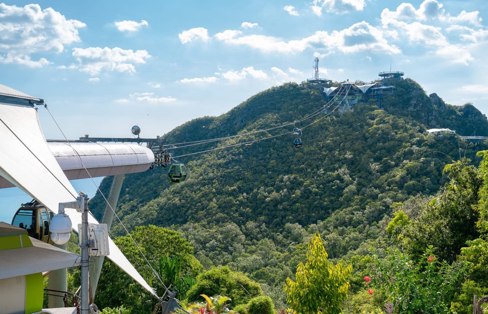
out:
M54 213L58 212L60 202L76 199L76 191L47 146L35 108L0 103L0 135L0 176ZM76 231L75 228L81 223L81 213L76 210L66 213ZM96 222L91 215L89 220ZM111 239L109 251L107 257L110 260L157 297Z

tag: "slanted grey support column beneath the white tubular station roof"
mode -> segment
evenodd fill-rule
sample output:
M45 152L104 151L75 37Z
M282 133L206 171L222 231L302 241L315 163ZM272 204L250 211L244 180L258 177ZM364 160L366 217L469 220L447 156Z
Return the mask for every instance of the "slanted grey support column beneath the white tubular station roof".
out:
M102 220L100 221L100 223L107 224L108 231L110 231L110 227L112 226L112 220L114 219L114 212L112 211L112 209L110 209L110 207L112 207L114 210L117 207L117 202L119 201L119 196L122 189L123 178L124 175L114 176L112 186L110 187L110 193L107 197L108 204L105 205ZM105 256L90 256L90 266L88 269L90 273L91 294L93 295L94 299L95 292L97 291L98 279L100 278L100 272L102 271L104 257Z

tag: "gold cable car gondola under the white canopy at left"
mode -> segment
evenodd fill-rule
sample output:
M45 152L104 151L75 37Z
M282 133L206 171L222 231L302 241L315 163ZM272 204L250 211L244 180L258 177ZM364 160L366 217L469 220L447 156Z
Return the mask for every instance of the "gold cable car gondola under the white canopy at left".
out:
M52 244L49 224L53 216L53 213L33 199L30 203L22 204L12 219L12 225L27 230L28 235L35 239Z

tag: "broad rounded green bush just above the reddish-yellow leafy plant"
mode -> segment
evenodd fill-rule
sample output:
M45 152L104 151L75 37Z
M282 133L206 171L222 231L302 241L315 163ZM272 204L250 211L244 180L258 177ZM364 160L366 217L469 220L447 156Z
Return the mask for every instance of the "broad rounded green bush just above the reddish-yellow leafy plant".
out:
M232 300L229 307L247 303L251 298L262 295L258 283L240 272L232 272L228 267L213 268L197 276L196 284L186 293L186 301L203 301L201 294L225 295Z

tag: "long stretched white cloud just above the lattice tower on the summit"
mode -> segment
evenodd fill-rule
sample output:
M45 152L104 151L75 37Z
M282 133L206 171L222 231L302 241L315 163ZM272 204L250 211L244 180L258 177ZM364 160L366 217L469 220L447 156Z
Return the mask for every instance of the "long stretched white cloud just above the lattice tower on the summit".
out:
M306 48L324 48L329 53L341 51L343 53L354 53L363 50L374 50L381 53L400 53L400 49L394 45L389 45L383 37L383 32L362 21L355 23L349 28L341 31L333 31L330 35L325 31L317 31L314 35L303 39L289 40L287 42L280 39L264 35L240 35L237 32L229 31L219 34L224 42L233 45L246 45L263 52L297 53ZM219 39L218 38L218 39Z

